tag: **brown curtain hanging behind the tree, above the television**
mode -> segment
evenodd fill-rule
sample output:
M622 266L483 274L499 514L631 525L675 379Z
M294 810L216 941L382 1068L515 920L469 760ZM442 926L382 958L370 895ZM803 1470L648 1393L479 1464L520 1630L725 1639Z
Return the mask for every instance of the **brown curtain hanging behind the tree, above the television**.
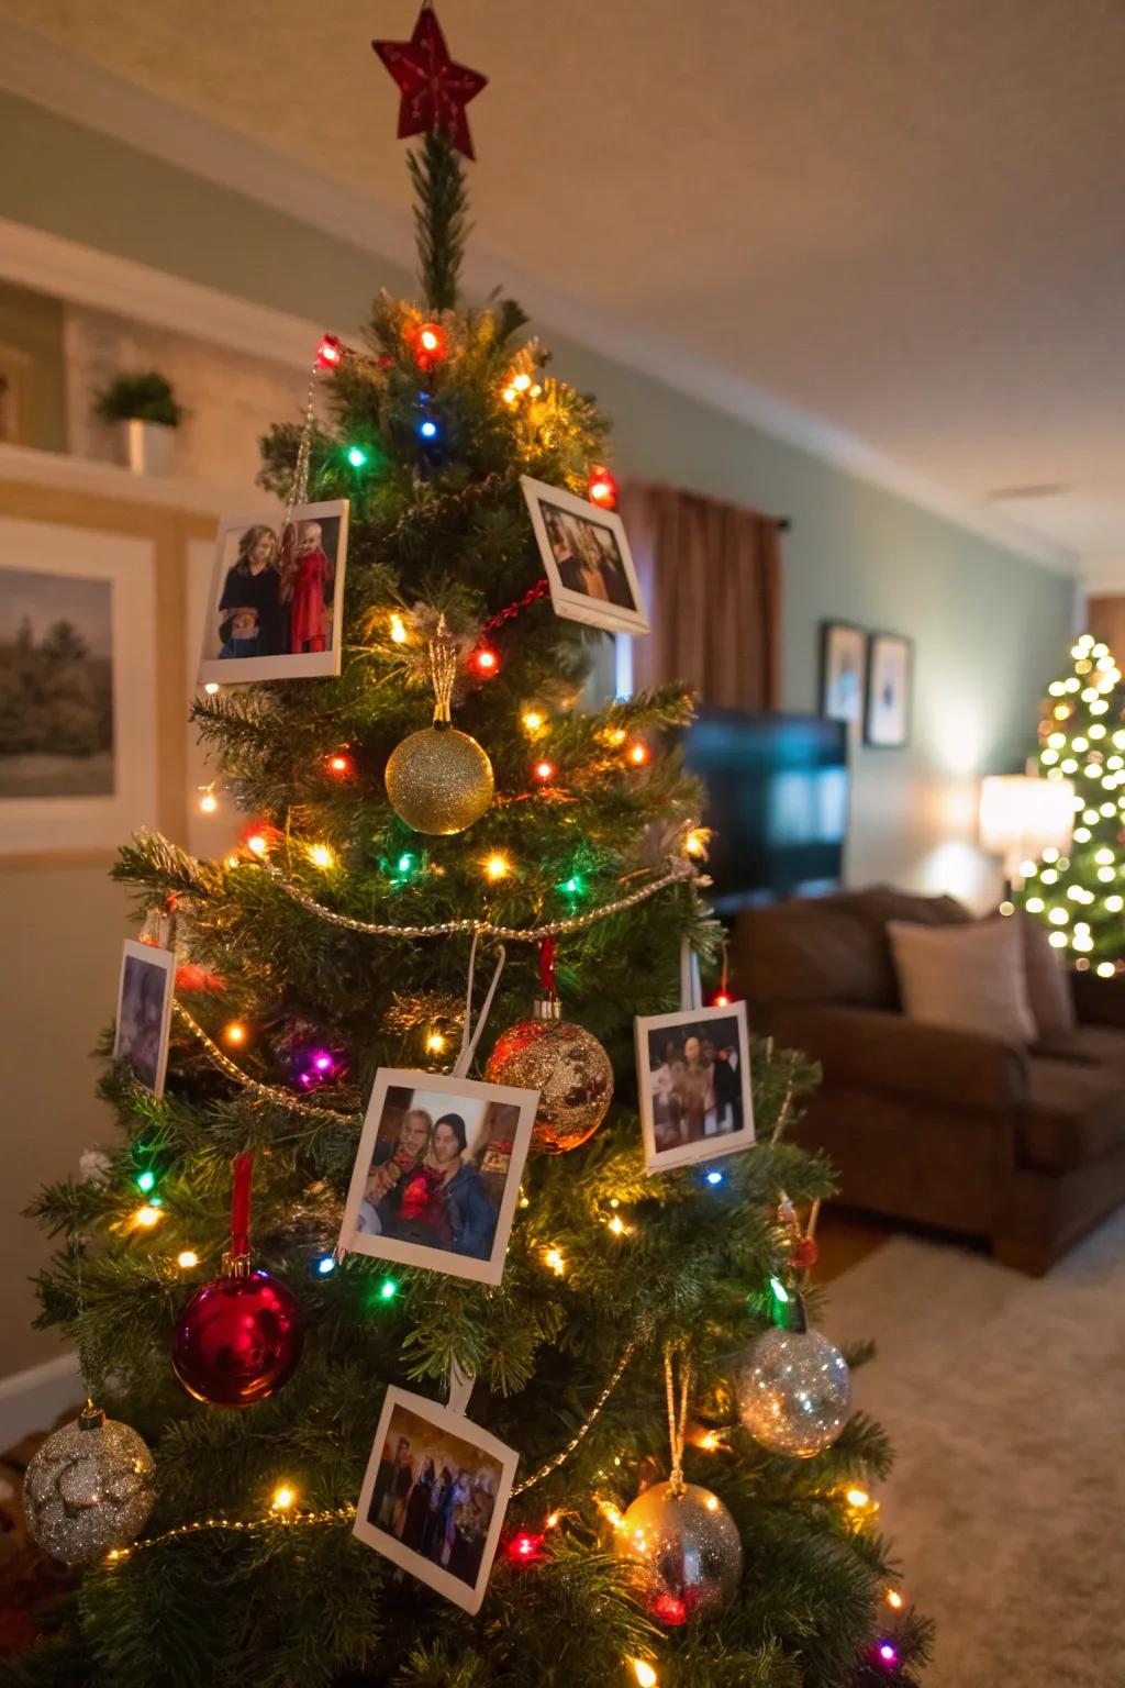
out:
M776 709L778 522L638 481L622 486L619 508L653 626L632 641L634 687L685 680L715 709Z

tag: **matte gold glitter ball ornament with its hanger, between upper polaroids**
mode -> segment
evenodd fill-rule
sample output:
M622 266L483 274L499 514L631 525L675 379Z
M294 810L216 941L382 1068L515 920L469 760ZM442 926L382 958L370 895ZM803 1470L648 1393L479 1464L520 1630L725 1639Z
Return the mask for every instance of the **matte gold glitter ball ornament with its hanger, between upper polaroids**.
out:
M445 616L430 640L433 724L412 733L386 763L386 795L400 820L415 832L449 837L464 832L493 802L493 763L477 741L450 721L457 643Z

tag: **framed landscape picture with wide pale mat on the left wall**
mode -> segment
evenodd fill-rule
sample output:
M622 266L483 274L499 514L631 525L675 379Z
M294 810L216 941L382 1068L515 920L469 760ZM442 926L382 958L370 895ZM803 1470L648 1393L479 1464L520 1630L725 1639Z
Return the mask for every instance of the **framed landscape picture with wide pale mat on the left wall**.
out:
M113 849L155 815L153 547L0 518L0 856Z

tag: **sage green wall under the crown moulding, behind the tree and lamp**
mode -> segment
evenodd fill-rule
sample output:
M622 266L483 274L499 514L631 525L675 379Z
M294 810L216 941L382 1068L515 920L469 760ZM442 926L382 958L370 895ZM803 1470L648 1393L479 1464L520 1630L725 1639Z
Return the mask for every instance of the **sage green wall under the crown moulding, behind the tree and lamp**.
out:
M359 322L395 265L201 177L0 95L0 216L290 311ZM987 895L975 780L1020 765L1069 635L1073 582L828 468L661 381L552 339L557 368L616 417L621 473L788 515L784 702L811 709L818 625L916 640L914 739L857 751L850 878Z

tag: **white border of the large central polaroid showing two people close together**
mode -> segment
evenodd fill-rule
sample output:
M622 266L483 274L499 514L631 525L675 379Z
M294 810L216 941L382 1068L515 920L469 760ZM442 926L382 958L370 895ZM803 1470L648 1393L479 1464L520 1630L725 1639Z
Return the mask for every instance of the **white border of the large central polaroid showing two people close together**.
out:
M393 1085L405 1090L437 1090L450 1097L487 1097L493 1102L504 1102L509 1107L519 1109L519 1119L511 1139L511 1161L504 1180L504 1193L496 1215L493 1252L486 1261L472 1259L469 1254L454 1254L452 1249L430 1249L420 1242L403 1242L398 1237L356 1231L359 1204L383 1119L383 1104L386 1102L386 1092ZM379 1067L371 1087L371 1101L363 1116L356 1165L353 1166L344 1219L341 1222L339 1247L356 1254L371 1254L376 1259L395 1261L398 1266L422 1266L427 1271L440 1271L450 1278L471 1278L474 1283L489 1285L503 1283L508 1241L511 1237L513 1219L516 1217L519 1182L528 1150L531 1148L531 1128L535 1126L538 1106L538 1090L518 1090L508 1084L482 1084L479 1079L455 1079L450 1074L422 1072L415 1067Z

